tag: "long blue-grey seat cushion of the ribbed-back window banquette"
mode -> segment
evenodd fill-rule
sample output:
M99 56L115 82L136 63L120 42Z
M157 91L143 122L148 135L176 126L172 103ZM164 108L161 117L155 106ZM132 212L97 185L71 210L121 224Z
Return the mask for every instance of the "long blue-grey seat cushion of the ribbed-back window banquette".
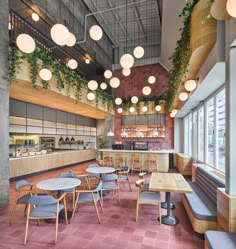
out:
M202 191L198 184L189 182L191 194L184 194L194 217L199 220L216 221L217 208L213 201Z

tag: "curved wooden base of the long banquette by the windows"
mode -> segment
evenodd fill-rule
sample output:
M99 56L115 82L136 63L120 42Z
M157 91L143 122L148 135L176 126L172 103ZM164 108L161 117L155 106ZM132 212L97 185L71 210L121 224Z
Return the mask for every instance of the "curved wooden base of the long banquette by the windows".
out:
M190 219L190 222L192 224L193 230L195 232L204 234L207 230L216 230L216 225L217 225L216 221L199 220L195 218L184 195L181 194L180 196L182 203L185 207L185 210L188 214L188 217Z

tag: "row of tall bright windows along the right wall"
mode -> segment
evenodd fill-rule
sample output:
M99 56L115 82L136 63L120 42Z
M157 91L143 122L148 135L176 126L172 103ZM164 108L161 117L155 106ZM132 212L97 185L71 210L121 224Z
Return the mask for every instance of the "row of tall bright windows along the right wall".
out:
M225 89L184 118L184 153L225 171Z

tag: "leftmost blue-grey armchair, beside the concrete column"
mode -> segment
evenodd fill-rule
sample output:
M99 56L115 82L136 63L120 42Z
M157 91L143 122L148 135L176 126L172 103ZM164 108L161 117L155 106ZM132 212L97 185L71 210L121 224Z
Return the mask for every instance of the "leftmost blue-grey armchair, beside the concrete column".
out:
M10 224L12 224L17 205L20 204L25 205L25 211L26 211L28 200L33 193L33 185L27 182L26 180L20 180L16 182L15 191L16 191L16 198L11 211Z

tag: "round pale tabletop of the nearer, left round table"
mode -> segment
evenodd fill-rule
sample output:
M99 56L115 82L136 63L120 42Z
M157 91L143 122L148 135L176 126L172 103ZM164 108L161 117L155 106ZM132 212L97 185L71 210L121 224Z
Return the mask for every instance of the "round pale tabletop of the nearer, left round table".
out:
M79 186L81 181L76 178L51 178L40 181L36 187L43 190L63 190Z

